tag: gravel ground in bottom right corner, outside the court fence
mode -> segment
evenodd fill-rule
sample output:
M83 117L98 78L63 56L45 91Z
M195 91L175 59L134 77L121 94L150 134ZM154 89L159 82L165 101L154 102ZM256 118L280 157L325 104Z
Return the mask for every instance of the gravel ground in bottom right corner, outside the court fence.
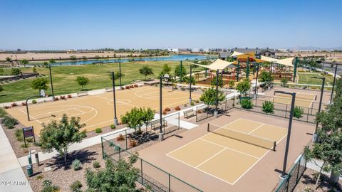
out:
M297 184L294 191L296 192L323 192L323 191L342 191L342 181L340 180L338 184L331 185L328 183L329 176L322 174L321 181L318 183L318 188L315 187L316 178L318 176L318 171L314 171L312 169L306 169L304 175L301 177L301 180Z

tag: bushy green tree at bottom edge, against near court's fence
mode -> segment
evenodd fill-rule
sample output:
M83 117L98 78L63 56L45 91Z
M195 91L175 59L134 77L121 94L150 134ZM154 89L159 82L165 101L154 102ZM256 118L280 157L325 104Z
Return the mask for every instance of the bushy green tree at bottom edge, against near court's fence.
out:
M87 191L138 191L135 182L138 179L139 170L133 166L137 159L137 156L130 156L127 162L124 159L120 159L114 164L108 158L105 161L105 169L99 171L87 169Z

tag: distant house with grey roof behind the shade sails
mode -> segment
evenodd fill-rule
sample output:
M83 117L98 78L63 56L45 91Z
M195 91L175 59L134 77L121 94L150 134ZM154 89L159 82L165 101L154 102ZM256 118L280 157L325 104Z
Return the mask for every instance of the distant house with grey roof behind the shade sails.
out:
M266 57L275 58L276 57L276 50L270 48L232 48L230 53L228 52L221 52L219 53L219 58L225 60L227 57L232 55L234 51L239 53L258 53L259 55L264 55Z

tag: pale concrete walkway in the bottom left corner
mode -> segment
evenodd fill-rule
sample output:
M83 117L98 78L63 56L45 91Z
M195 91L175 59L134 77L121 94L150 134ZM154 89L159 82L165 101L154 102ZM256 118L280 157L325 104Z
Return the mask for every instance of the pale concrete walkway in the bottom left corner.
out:
M26 158L27 159L27 158ZM0 125L0 191L31 192L24 171L21 169L9 139Z

